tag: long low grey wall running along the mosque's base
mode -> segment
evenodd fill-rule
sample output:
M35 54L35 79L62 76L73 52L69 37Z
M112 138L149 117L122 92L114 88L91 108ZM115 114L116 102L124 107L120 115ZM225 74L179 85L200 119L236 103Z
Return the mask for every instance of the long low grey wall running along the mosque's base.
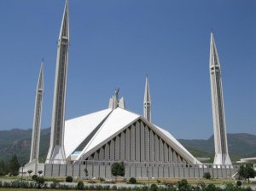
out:
M84 168L88 170L88 177L111 178L113 162L87 161L85 164L44 164L44 176L48 177L85 177ZM131 163L125 162L125 177L179 177L200 178L209 172L213 178L230 178L238 171L239 165L186 165L170 163Z

